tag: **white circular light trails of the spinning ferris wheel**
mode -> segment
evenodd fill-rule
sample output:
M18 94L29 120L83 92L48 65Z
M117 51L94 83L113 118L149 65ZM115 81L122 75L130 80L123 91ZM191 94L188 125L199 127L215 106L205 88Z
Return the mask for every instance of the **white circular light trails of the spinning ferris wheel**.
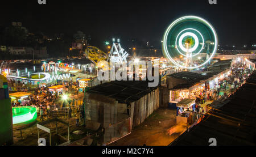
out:
M213 50L210 51L210 57L205 60L203 63L199 64L199 65L196 65L196 66L184 66L184 65L180 65L179 63L177 63L174 58L171 56L172 52L171 50L168 50L168 44L167 44L167 41L168 41L168 35L170 33L170 31L172 29L175 29L175 26L176 24L179 24L179 23L183 23L183 22L189 22L189 20L191 22L197 22L197 23L200 23L202 25L204 25L205 27L209 28L209 31L210 33L212 33L212 40L213 40L213 43L214 43L214 48ZM203 28L203 27L202 27ZM187 29L183 29L183 31L180 31L179 34L176 36L176 42L175 42L175 45L176 45L176 49L177 49L177 52L179 52L180 54L182 54L183 56L186 56L185 54L181 53L179 48L181 50L183 50L184 52L194 52L198 46L199 46L199 38L195 35L195 33L192 33L192 32L186 32L186 33L183 33L183 35L180 36L180 39L179 39L179 47L177 46L177 37L179 37L179 35L188 30L188 29L191 29L197 33L199 33L199 35L201 36L202 40L203 40L203 44L202 44L202 47L201 49L199 50L199 52L196 52L195 54L192 54L191 57L194 57L196 56L197 54L199 54L203 48L204 48L204 37L203 35L201 34L200 31L198 31L197 29L194 29L194 28L187 28ZM205 28L206 29L206 28ZM195 45L190 48L190 49L185 49L183 44L182 44L182 40L184 39L185 36L192 36L194 39L195 39ZM198 43L197 43L198 41ZM198 45L197 45L198 44ZM213 26L205 19L203 18L200 18L198 16L184 16L184 17L181 17L179 19L176 19L174 22L172 22L170 24L170 26L166 29L166 32L164 32L164 36L163 36L163 43L162 43L162 46L163 46L163 53L164 53L164 56L166 56L172 63L174 63L176 66L179 66L181 68L185 68L185 69L197 69L199 67L202 67L204 66L205 64L207 64L211 59L212 57L214 56L214 54L216 53L216 50L217 50L217 46L218 46L218 39L217 39L217 33L215 31L215 29L213 28ZM170 46L170 45L169 45Z

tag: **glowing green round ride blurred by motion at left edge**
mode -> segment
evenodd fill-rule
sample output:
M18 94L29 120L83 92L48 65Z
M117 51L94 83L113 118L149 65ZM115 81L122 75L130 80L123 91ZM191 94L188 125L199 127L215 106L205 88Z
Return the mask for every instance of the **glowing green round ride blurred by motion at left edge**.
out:
M36 108L13 107L13 124L24 125L36 121Z

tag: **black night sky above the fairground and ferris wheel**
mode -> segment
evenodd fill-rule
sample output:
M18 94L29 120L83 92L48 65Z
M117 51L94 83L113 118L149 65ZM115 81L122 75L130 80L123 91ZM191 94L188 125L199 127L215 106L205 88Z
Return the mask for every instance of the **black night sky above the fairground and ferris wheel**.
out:
M256 44L254 1L217 0L217 5L209 5L208 0L47 0L39 5L38 0L9 0L1 1L0 15L0 24L22 22L30 32L52 35L80 30L97 42L119 36L155 45L160 45L172 21L196 15L213 25L221 45Z

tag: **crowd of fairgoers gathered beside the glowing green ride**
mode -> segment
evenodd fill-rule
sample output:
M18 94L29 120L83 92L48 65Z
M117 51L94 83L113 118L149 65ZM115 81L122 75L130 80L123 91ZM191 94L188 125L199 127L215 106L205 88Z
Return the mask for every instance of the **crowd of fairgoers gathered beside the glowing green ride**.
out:
M15 80L10 80L10 83L15 83ZM19 83L22 84L22 82ZM49 118L50 115L72 117L72 112L74 113L75 110L77 111L77 113L74 114L76 118L79 117L80 119L80 117L83 117L81 107L73 109L72 111L71 107L73 106L71 106L71 99L65 101L60 101L59 99L62 95L67 93L69 95L77 95L79 92L77 88L78 84L76 82L64 82L64 91L53 94L49 91L49 87L56 85L58 85L58 83L50 84L49 86L36 87L34 89L34 94L28 96L27 99L23 101L12 101L12 105L13 107L35 107L38 116L40 117L40 121L44 121L44 117Z

